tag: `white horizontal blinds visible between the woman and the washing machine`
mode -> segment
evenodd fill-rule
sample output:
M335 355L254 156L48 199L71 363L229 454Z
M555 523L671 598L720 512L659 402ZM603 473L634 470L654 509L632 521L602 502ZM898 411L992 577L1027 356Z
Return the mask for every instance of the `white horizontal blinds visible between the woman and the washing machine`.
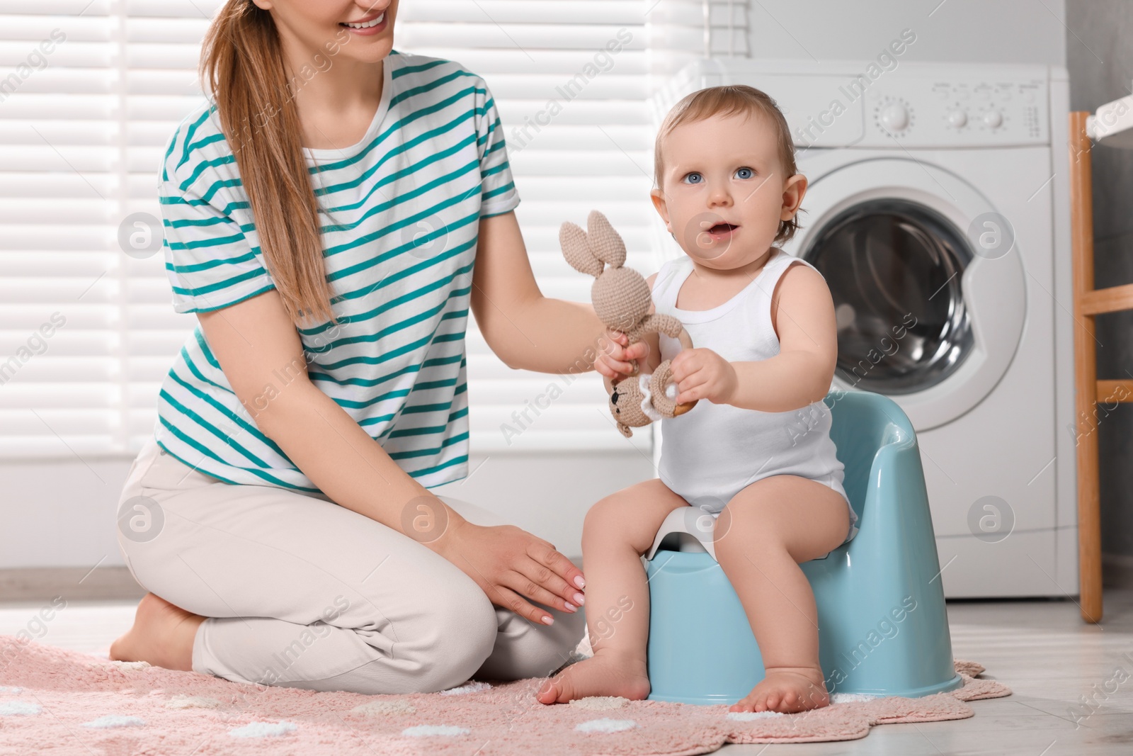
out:
M647 9L641 0L400 5L397 49L460 61L492 90L520 195L516 215L548 297L590 300L594 279L570 267L559 246L560 224L585 228L590 210L605 213L625 239L629 265L645 274L656 270L649 245L655 211L648 196ZM474 451L628 443L648 449L650 434L627 441L617 433L597 373L513 371L475 326L468 352Z

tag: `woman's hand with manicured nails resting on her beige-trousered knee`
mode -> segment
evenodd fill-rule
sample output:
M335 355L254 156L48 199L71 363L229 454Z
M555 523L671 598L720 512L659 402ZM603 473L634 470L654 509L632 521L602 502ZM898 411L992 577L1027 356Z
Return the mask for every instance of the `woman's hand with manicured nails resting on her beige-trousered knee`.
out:
M426 544L459 567L496 606L520 617L554 623L523 597L564 612L578 611L585 597L582 571L553 545L514 525L482 526L450 520L442 538Z

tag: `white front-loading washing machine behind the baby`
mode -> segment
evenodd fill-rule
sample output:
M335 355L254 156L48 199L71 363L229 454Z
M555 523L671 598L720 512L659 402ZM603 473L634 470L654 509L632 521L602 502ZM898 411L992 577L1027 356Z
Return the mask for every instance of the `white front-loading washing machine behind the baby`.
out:
M786 116L809 188L785 249L833 295L832 389L912 421L945 595L1076 596L1066 71L706 59L653 96L655 128L721 84Z

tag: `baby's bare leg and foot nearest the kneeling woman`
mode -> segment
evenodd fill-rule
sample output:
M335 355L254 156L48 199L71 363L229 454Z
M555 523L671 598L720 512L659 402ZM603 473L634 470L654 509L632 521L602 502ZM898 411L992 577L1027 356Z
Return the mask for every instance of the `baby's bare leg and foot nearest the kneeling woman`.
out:
M641 554L668 512L688 502L659 479L645 481L597 502L582 526L586 623L594 657L571 664L539 689L544 704L587 696L649 695L646 642L649 587Z

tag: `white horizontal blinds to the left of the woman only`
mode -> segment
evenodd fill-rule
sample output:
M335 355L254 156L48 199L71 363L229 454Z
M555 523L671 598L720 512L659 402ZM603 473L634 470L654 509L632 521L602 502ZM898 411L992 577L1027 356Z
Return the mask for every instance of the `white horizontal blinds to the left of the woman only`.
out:
M0 456L134 455L152 433L196 323L170 307L156 171L219 5L0 0Z

